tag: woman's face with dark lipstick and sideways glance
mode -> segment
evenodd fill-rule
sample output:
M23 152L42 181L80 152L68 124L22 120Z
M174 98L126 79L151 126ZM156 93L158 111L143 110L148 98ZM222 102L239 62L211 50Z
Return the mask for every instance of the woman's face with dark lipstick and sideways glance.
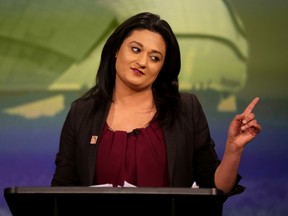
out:
M134 30L116 53L116 88L151 89L164 64L166 45L162 36Z

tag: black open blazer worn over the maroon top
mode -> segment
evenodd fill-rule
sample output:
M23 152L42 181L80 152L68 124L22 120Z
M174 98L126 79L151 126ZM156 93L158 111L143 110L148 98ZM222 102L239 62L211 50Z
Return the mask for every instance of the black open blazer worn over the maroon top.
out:
M181 93L183 111L170 128L163 128L171 187L215 187L214 173L220 160L210 137L208 123L197 97ZM52 186L89 186L93 184L97 144L110 104L95 111L93 97L71 104L63 124ZM239 179L240 180L240 179Z

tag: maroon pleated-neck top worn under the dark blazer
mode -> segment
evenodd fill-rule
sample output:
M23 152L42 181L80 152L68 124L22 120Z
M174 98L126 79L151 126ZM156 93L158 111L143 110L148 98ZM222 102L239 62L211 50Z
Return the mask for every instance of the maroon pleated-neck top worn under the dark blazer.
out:
M166 146L162 129L153 120L132 132L104 126L98 146L95 184L167 187Z

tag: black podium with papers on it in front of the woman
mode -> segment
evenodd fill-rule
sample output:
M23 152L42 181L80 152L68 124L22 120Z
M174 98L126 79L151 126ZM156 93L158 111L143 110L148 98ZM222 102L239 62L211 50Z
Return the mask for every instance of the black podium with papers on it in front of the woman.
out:
M215 188L8 187L13 216L222 215L225 200Z

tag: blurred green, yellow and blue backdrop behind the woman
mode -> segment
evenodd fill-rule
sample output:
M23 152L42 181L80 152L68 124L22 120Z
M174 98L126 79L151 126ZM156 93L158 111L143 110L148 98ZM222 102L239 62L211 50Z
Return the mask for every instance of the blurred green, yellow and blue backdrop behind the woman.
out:
M181 49L180 90L198 95L222 157L230 120L255 97L262 133L245 149L244 193L223 216L288 215L288 1L0 1L0 215L10 186L49 186L70 104L94 84L119 23L158 13Z

